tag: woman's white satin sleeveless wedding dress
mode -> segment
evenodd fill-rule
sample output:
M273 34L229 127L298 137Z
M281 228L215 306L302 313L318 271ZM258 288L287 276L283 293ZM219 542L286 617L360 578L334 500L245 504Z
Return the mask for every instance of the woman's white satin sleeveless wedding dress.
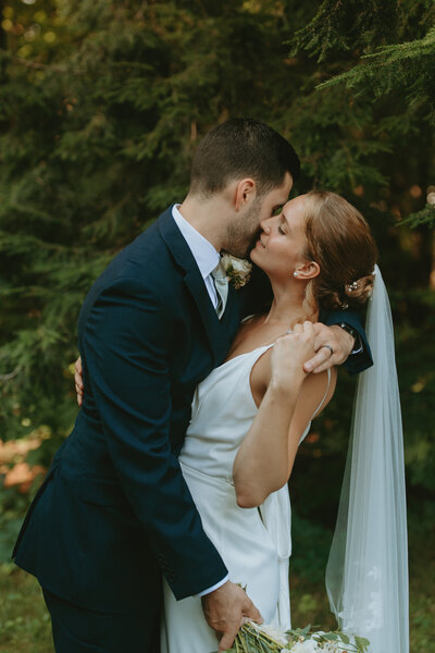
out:
M272 346L232 358L199 384L179 461L203 529L221 554L229 580L246 587L265 624L289 628L288 488L272 493L259 508L240 508L233 484L237 449L258 410L250 373ZM314 415L326 394L327 390ZM309 428L310 424L300 442ZM216 649L216 636L206 623L200 597L176 601L164 581L161 653L210 653Z

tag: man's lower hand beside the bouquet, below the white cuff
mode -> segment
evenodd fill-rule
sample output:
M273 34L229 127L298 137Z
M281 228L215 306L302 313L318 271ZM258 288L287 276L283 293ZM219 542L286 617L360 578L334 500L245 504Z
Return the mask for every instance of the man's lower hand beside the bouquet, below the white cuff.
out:
M232 648L238 629L247 619L263 623L245 590L229 580L214 592L202 596L201 601L207 623L220 638L220 651Z

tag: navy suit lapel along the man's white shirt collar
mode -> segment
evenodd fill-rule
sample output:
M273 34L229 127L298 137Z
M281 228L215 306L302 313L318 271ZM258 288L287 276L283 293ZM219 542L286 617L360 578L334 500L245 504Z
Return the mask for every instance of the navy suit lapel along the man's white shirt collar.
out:
M172 217L172 207L166 209L157 223L160 235L170 250L175 263L181 269L184 282L198 308L202 323L209 338L213 357L219 360L222 357L222 340L224 329L217 319L216 311L210 300L206 284L199 271L197 262L184 239L179 229Z

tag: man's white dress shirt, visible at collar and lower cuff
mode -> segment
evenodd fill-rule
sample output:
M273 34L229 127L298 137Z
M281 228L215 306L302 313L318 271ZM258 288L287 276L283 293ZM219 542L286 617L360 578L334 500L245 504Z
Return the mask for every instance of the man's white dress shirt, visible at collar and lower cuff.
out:
M204 238L187 220L185 220L182 213L178 211L179 205L174 205L172 207L172 217L175 220L175 224L182 232L184 239L186 241L194 259L197 262L199 271L204 281L207 292L209 293L210 299L214 306L217 307L217 293L213 283L213 278L211 272L217 266L220 261L220 254L216 249L214 249L213 245ZM210 594L214 590L217 590L221 586L223 586L228 580L228 575L225 576L222 580L216 582L211 588L203 590L197 594L198 596L204 596L206 594Z

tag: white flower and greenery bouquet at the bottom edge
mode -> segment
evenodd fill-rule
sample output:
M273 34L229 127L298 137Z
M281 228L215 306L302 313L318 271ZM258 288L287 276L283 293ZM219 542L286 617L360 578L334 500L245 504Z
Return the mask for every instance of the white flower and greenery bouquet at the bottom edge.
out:
M233 648L225 653L366 653L369 640L336 630L311 630L311 625L279 630L249 621L241 626Z

